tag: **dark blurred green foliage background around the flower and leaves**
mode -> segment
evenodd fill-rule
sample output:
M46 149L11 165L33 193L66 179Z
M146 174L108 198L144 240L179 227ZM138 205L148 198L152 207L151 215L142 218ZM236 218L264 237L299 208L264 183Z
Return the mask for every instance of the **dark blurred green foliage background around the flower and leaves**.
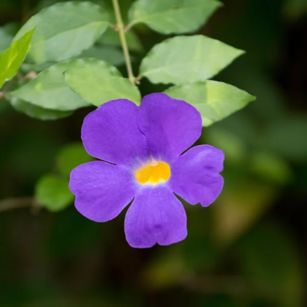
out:
M18 28L55 2L1 0L0 25ZM146 250L126 243L124 212L98 224L73 205L51 213L0 203L0 306L307 305L307 1L223 2L200 33L247 54L216 80L257 100L203 130L199 143L225 151L220 198L209 208L186 205L184 242ZM130 3L121 1L123 13ZM165 38L136 31L144 51L133 53L135 71ZM120 50L116 56L122 64ZM140 89L165 87L142 80ZM43 122L1 100L0 198L20 196L27 205L24 197L55 170L62 146L80 141L89 111Z

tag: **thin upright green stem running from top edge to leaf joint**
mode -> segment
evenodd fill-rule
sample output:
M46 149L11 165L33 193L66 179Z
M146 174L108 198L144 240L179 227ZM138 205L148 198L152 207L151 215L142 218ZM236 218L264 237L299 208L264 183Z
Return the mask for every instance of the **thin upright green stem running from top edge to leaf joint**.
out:
M127 68L127 73L128 73L128 78L132 84L135 84L135 77L133 75L132 67L131 67L131 60L129 56L129 50L127 47L127 41L125 37L125 27L123 24L123 20L121 17L120 13L120 8L118 5L118 0L112 0L113 2L113 7L114 7L114 12L115 12L115 17L116 17L116 26L118 28L119 32L119 38L121 41L124 57L125 57L125 62L126 62L126 68Z

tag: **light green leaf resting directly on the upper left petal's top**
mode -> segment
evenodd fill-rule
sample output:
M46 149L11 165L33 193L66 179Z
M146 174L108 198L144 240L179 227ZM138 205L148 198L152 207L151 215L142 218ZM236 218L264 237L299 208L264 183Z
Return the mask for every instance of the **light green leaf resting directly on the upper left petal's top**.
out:
M137 104L141 101L138 87L120 76L115 67L100 61L86 63L69 69L65 73L69 86L84 100L96 106L114 99L129 99Z

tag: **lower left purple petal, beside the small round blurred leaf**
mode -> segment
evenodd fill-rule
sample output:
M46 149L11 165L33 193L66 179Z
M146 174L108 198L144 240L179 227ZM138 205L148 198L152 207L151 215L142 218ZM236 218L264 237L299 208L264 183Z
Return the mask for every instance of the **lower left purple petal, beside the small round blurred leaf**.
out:
M122 166L104 161L92 161L74 168L69 188L76 195L77 210L95 222L112 220L136 194L131 174Z

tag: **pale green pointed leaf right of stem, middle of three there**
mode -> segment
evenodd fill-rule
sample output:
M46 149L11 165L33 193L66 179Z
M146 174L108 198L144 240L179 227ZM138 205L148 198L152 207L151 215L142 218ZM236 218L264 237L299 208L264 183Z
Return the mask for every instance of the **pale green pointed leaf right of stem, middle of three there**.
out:
M244 51L204 35L176 36L154 46L142 60L140 75L152 83L205 81Z

